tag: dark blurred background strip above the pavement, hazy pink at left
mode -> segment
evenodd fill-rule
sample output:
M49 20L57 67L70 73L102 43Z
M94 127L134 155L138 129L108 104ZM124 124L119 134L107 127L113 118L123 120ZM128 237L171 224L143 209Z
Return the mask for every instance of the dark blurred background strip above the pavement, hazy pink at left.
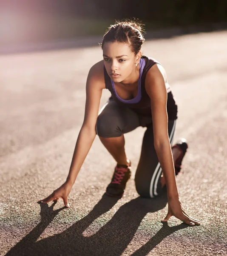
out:
M226 27L226 0L17 0L0 2L0 44L103 35L115 19L136 17L145 29Z

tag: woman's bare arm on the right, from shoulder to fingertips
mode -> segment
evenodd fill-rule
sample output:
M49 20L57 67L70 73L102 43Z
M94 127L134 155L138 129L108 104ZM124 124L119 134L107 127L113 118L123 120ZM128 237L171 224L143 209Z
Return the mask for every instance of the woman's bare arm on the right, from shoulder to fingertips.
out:
M168 136L167 90L164 76L165 70L155 64L148 70L145 79L145 90L150 97L151 104L154 147L167 187L168 213L163 221L167 221L171 216L175 216L189 225L200 224L199 220L187 215L179 200L173 155Z

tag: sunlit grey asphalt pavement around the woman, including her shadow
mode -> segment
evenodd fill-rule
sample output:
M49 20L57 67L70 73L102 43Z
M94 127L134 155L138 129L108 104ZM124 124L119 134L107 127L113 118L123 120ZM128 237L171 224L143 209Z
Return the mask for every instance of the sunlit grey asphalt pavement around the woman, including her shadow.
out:
M100 38L101 41L101 38ZM189 143L176 177L201 225L167 214L166 194L134 185L145 128L125 134L132 177L121 199L104 195L115 162L96 137L69 195L37 204L67 177L82 125L85 82L100 47L0 56L0 255L227 255L227 31L147 41L179 106L175 142ZM108 99L103 91L100 108Z

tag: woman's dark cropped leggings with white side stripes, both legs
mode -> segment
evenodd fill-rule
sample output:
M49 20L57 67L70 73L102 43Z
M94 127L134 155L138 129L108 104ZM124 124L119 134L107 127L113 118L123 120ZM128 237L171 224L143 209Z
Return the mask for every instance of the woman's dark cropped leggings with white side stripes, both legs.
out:
M154 198L162 191L162 169L154 148L153 125L151 116L144 117L147 122L142 143L139 163L136 169L136 190L142 197ZM109 100L99 112L96 134L99 137L119 137L140 126L141 116L130 108ZM144 122L144 120L143 120ZM168 120L170 144L173 142L176 120Z

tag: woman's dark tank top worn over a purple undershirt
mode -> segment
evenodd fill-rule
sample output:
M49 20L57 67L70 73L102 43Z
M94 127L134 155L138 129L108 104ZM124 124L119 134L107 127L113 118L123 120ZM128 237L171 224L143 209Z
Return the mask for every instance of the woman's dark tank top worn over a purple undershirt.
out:
M138 99L136 98L132 100L123 100L120 99L120 97L116 94L116 90L114 88L114 83L111 81L110 76L108 75L105 65L104 65L104 78L105 78L105 88L108 89L111 92L110 99L114 99L118 104L125 105L128 108L133 109L136 113L143 116L151 116L151 109L150 109L150 97L148 96L146 90L145 90L145 77L148 72L148 70L154 65L154 64L160 64L158 61L156 61L154 58L147 57L145 55L141 56L140 60L140 71L141 67L143 68L142 73L140 73L139 76L139 83L141 80L141 86L138 84L138 94L136 98L139 96ZM174 100L173 94L171 92L169 84L166 82L166 88L167 88L167 113L168 113L168 119L177 119L177 105ZM139 91L140 90L140 91ZM139 95L140 94L140 95Z

